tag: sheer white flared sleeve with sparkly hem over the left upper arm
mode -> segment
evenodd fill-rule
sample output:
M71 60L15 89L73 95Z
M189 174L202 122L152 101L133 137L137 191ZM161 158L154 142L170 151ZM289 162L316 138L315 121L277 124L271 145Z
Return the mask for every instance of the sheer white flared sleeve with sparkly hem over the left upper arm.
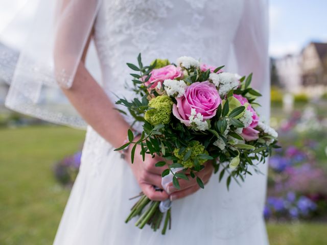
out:
M0 69L7 71L3 78L11 80L8 108L57 124L85 128L84 120L61 89L73 84L100 5L101 0L38 1L18 59L6 51L0 58Z

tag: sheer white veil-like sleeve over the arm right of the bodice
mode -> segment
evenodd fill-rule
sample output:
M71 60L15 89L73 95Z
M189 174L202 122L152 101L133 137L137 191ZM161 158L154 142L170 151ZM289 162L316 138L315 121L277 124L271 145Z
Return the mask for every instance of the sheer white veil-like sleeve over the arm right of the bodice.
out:
M252 86L262 93L262 118L269 120L270 79L268 56L268 1L248 0L244 2L243 14L234 40L234 50L240 74L253 72Z

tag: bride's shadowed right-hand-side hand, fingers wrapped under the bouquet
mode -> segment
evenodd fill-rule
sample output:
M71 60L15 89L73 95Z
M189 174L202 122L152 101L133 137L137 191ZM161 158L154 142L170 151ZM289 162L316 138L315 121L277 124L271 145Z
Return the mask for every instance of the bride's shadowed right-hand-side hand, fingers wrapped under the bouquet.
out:
M196 173L196 175L202 180L204 184L206 184L212 176L213 170L213 165L210 162L207 162L205 163L205 167L201 171ZM184 198L200 189L199 185L196 182L196 178L192 179L190 175L188 175L188 177L189 180L178 180L180 185L179 190L176 189L172 183L168 185L167 191L170 194L171 201Z

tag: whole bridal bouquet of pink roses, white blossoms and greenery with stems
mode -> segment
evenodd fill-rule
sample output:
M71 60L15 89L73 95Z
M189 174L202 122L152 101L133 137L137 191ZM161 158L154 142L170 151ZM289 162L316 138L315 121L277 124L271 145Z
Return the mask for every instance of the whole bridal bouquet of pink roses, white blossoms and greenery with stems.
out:
M127 63L135 72L133 77L135 98L120 99L135 121L142 121L141 138L134 140L128 130L129 142L116 151L132 147L131 159L137 145L145 154L155 154L167 161L156 166L167 166L162 178L170 179L179 189L179 179L196 178L204 188L197 173L210 161L219 181L224 175L227 188L231 180L237 183L260 172L258 162L265 162L273 148L277 148L275 130L260 120L255 102L260 92L251 88L252 74L241 77L224 72L223 66L200 64L192 57L180 57L176 64L168 60L155 60L144 66L141 54L138 65ZM124 111L121 111L125 113ZM256 162L253 162L256 161ZM188 171L188 175L185 172ZM151 201L141 194L132 207L126 223L139 216L136 226L149 224L154 231L164 220L162 234L170 228L171 202Z

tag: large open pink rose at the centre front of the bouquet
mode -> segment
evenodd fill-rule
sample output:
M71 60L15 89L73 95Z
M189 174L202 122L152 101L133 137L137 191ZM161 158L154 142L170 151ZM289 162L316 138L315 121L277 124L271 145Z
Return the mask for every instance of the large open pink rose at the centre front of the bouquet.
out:
M177 105L173 105L173 114L186 126L190 126L191 109L201 113L205 120L216 115L221 103L216 86L208 81L191 84L186 88L185 94L177 97L176 101Z

